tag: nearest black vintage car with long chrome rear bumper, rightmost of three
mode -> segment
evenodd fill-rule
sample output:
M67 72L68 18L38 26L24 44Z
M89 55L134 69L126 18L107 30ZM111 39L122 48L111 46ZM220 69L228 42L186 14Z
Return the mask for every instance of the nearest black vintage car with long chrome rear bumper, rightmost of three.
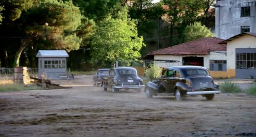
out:
M208 70L201 66L170 67L161 78L145 86L147 98L153 95L175 95L178 101L183 100L186 95L202 95L212 100L214 94L220 92Z

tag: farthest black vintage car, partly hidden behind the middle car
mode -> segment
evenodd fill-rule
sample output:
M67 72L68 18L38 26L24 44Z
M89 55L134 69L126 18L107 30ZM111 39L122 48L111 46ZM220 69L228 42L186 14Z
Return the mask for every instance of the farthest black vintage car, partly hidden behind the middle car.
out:
M109 75L109 70L110 69L98 69L97 73L94 74L93 78L94 86L99 86L99 84L101 84L102 86L103 77L107 77Z

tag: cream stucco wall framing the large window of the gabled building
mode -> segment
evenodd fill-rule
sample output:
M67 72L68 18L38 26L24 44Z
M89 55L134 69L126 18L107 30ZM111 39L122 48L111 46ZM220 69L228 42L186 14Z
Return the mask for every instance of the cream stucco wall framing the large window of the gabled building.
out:
M256 48L256 37L245 35L227 42L227 69L235 69L236 48Z

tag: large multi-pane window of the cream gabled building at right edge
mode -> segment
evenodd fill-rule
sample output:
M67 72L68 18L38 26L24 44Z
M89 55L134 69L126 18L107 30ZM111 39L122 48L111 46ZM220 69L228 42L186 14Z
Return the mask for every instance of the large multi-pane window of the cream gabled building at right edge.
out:
M256 53L236 53L236 69L256 69Z

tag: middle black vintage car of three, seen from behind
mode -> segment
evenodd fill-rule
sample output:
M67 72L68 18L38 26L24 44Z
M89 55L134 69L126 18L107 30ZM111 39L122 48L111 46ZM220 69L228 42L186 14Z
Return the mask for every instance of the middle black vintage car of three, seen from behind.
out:
M120 67L110 69L109 76L103 78L103 90L111 88L112 92L119 89L135 89L141 92L144 87L142 79L137 75L137 70L132 67Z

